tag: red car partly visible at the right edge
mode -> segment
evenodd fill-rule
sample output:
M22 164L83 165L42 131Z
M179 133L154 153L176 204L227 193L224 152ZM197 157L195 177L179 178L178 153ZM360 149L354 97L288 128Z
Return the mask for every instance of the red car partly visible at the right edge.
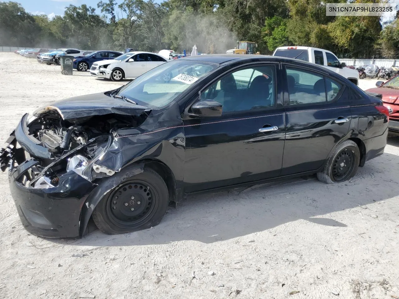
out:
M389 111L389 134L399 136L399 75L387 82L377 81L375 88L367 89L366 92L382 94L384 106Z

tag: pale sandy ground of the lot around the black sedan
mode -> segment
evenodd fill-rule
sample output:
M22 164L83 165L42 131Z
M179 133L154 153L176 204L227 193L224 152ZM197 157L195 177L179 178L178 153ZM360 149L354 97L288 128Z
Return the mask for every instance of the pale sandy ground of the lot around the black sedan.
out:
M1 144L25 111L120 86L14 53L0 53L0 72ZM297 179L189 197L150 230L76 240L28 234L0 173L0 297L399 296L398 146L390 138L347 183Z

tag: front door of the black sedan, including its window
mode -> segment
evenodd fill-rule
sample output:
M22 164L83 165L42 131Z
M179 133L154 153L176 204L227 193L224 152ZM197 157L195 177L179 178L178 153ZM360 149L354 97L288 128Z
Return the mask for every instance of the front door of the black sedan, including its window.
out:
M201 92L199 100L220 102L223 113L184 120L186 192L280 174L285 125L277 74L277 64L247 67L224 75Z

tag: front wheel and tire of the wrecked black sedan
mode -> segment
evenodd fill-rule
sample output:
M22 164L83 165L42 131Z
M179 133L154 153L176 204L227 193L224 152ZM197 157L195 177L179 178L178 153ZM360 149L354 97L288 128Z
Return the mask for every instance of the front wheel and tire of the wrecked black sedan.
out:
M124 234L156 226L168 209L168 187L158 173L144 168L133 177L126 174L128 171L122 170L114 175L117 185L93 210L93 220L105 234Z

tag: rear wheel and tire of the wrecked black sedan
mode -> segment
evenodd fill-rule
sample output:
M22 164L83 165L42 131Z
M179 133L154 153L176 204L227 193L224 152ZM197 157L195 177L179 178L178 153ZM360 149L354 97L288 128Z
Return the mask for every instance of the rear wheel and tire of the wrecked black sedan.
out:
M358 171L359 161L358 145L352 140L345 140L327 158L326 165L323 171L317 173L317 178L327 184L348 181Z

